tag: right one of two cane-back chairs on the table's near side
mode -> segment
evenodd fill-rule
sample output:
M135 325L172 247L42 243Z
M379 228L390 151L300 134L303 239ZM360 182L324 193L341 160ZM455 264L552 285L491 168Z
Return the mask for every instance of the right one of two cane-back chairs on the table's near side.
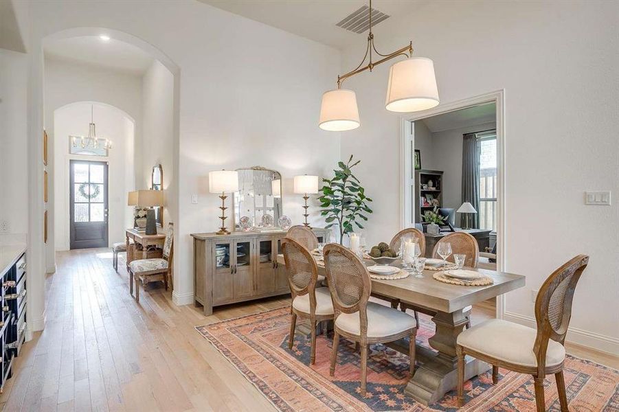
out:
M368 301L372 292L370 273L352 251L330 243L324 247L327 282L335 310L333 350L330 376L335 375L339 337L359 343L361 347L361 396L365 396L368 372L368 345L392 342L409 337L409 371L415 367L415 318L374 302Z

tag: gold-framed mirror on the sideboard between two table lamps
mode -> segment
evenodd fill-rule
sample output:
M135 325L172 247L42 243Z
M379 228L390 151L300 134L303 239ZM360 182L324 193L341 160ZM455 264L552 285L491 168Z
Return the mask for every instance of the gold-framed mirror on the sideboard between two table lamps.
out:
M284 213L282 210L282 175L277 170L254 166L239 168L238 192L234 193L234 223L240 228L240 218L247 216L254 226L260 225L262 216L271 215L273 225Z

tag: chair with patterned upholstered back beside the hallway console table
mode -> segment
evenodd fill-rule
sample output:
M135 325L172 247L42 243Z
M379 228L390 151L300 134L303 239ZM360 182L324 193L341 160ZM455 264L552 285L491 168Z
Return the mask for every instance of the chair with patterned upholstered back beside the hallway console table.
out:
M163 258L138 259L129 263L129 293L133 295L135 282L135 300L139 301L139 281L146 287L149 282L162 281L168 290L168 277L172 273L172 255L174 253L174 225L168 223L168 232L164 241Z

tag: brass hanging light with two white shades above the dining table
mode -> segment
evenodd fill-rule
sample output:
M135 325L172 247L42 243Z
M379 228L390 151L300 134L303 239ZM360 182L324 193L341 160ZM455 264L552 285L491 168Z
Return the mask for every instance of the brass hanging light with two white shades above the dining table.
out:
M381 56L381 59L372 61L372 52ZM370 60L364 66L368 56ZM404 113L422 111L438 105L434 62L425 57L413 57L412 42L390 54L381 54L376 50L372 34L372 0L370 0L370 34L365 56L357 68L337 76L337 89L326 91L322 95L319 128L334 132L358 128L360 122L357 95L352 90L341 89L341 84L355 74L365 70L372 71L377 65L398 56L406 56L407 59L397 62L389 70L385 108L388 111Z

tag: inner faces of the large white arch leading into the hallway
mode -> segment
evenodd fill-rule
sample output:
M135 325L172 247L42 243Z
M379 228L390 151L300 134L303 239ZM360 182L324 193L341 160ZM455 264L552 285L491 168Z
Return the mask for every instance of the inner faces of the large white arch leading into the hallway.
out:
M172 87L171 87L171 120L170 120L170 137L172 139L171 146L171 161L170 167L165 171L167 179L169 180L168 188L166 190L166 214L169 215L167 219L168 222L179 221L178 218L178 187L179 187L179 172L178 172L178 164L179 164L179 85L180 85L180 69L179 67L166 56L163 52L161 52L153 45L150 45L146 41L138 38L137 36L133 36L126 32L121 32L118 30L110 30L104 27L74 27L69 28L67 30L60 30L53 34L48 34L45 36L43 34L41 37L36 38L36 35L33 36L31 42L31 50L30 52L30 64L31 69L29 73L29 78L32 84L30 88L30 105L29 105L29 114L28 114L28 124L29 129L28 133L32 138L30 139L30 143L28 145L28 186L29 190L29 205L28 205L28 255L29 255L29 268L28 271L28 284L29 284L29 295L31 295L32 299L28 299L28 312L32 319L31 328L28 329L27 339L32 339L32 332L37 330L43 330L45 325L45 272L52 273L55 270L55 247L54 247L54 236L48 237L47 242L44 241L44 212L52 211L54 209L54 201L53 195L52 199L48 198L48 202L44 202L43 198L43 174L44 172L52 172L49 177L50 187L48 187L48 191L50 194L54 192L53 184L54 184L54 176L53 176L53 166L48 163L48 165L43 165L41 162L41 158L43 157L43 139L35 139L34 136L40 136L41 130L47 129L52 130L54 128L54 111L56 108L60 108L62 105L58 104L56 106L46 106L47 95L45 95L45 45L56 39L61 38L71 38L74 36L99 36L100 34L105 33L112 38L116 38L119 41L124 41L128 44L131 44L139 49L144 50L153 58L155 61L161 65L161 67L165 67L169 72L170 76L172 76ZM100 99L96 98L77 98L69 102L76 102L76 100L95 100L102 102ZM122 104L115 104L114 106L122 106ZM50 114L52 113L52 114ZM134 131L135 136L139 135L140 125L139 120L135 115L135 113L126 113L128 117L132 117L134 119ZM52 150L54 150L53 141L52 144L48 147L48 157L52 157ZM150 165L149 165L150 168ZM146 173L144 173L146 174ZM146 187L139 187L146 188ZM126 194L123 196L122 201L124 201L126 205ZM48 227L47 229L53 230L53 222L54 218L48 216ZM178 225L178 223L177 223ZM178 226L177 226L178 227ZM124 233L124 231L122 232ZM121 235L122 235L121 233ZM50 235L51 233L48 233ZM175 254L175 261L178 259L178 254ZM175 266L178 266L177 262L175 262ZM176 289L176 288L174 288Z

